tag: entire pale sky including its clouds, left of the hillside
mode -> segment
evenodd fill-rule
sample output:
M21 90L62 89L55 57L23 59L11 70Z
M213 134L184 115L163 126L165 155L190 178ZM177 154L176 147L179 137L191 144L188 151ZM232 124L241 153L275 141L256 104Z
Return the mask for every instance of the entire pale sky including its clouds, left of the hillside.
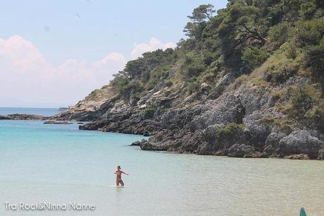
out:
M227 1L1 1L0 107L75 104L127 61L175 47L200 4Z

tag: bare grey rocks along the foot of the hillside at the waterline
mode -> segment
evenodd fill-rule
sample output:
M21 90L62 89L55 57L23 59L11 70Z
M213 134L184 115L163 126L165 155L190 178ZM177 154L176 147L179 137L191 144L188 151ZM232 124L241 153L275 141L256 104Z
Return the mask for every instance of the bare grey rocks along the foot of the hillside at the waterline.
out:
M285 114L275 107L266 88L244 85L224 91L215 100L194 103L190 96L177 101L177 94L162 85L135 103L116 101L114 95L92 112L73 107L54 119L92 119L79 128L151 136L136 144L142 150L324 160L323 133L298 122L288 131L271 120L285 118ZM75 107L86 107L86 102L81 103Z

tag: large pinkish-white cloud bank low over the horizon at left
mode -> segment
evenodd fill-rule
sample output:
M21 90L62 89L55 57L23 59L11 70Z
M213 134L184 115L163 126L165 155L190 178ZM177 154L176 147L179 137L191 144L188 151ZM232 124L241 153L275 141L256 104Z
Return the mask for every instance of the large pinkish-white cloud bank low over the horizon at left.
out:
M0 107L74 104L106 85L125 62L123 55L114 52L94 64L67 59L54 66L23 37L0 37Z

